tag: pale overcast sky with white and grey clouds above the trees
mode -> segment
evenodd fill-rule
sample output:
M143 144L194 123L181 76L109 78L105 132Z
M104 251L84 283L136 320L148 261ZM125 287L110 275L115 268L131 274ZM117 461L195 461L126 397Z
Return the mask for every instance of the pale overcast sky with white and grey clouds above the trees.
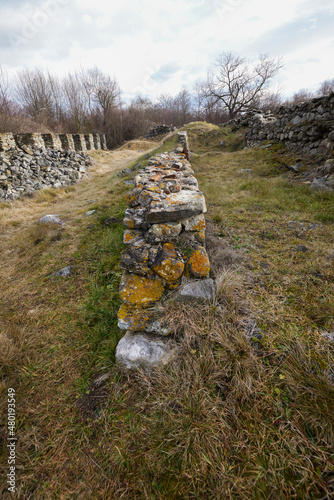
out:
M125 96L191 90L222 51L282 56L284 94L334 78L333 0L1 0L0 64L97 65Z

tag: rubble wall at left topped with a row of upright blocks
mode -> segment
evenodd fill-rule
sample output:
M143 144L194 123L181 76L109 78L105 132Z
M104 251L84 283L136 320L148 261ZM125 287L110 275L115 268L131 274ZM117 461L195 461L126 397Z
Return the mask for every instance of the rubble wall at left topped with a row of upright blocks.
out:
M93 149L107 149L105 135L0 134L0 201L74 184Z

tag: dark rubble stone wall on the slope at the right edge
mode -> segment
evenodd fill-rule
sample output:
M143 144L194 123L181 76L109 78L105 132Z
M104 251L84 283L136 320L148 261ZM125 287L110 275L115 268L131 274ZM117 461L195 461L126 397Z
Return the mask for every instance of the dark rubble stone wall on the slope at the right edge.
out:
M334 93L273 112L252 111L229 122L234 129L247 127L248 146L279 141L297 151L334 157Z

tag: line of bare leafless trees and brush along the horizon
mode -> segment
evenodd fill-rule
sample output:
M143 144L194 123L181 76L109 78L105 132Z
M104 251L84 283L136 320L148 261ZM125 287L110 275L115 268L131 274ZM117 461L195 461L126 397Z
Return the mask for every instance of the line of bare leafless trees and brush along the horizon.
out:
M334 91L334 78L316 92L301 90L287 102L272 83L283 63L261 54L256 61L222 52L192 90L124 102L119 83L97 67L59 77L23 69L9 78L0 67L0 132L105 133L108 146L139 137L156 124L227 122L249 109L272 109Z

